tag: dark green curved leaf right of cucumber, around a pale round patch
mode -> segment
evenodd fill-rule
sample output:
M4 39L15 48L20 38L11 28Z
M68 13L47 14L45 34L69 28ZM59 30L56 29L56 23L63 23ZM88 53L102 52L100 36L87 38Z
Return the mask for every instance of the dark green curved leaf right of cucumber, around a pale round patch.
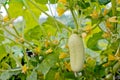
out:
M87 47L95 51L100 50L98 47L98 40L102 39L102 34L103 32L93 34L87 41Z

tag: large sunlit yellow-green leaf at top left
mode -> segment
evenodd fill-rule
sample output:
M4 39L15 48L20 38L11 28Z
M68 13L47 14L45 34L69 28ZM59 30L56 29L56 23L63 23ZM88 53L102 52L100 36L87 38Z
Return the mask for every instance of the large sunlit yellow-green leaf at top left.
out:
M30 1L26 0L24 4L22 0L11 0L9 3L8 12L11 18L23 16L26 22L25 32L38 25L39 15L41 11L37 9ZM47 10L46 5L37 4L43 10Z

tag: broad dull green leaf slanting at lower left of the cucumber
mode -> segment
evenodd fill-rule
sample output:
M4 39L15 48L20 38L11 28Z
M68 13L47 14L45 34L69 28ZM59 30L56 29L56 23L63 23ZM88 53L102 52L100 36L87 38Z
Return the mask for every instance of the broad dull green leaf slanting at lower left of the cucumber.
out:
M39 64L37 70L42 72L44 75L46 75L50 70L50 68L54 66L57 61L58 61L57 52L51 53L42 61L41 64Z

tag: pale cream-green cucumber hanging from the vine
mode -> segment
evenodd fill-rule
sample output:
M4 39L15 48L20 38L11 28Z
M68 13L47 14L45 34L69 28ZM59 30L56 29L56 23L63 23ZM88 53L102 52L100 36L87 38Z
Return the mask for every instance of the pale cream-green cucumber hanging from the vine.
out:
M70 65L73 72L78 72L83 69L85 51L82 39L77 34L72 34L68 40L70 51Z

